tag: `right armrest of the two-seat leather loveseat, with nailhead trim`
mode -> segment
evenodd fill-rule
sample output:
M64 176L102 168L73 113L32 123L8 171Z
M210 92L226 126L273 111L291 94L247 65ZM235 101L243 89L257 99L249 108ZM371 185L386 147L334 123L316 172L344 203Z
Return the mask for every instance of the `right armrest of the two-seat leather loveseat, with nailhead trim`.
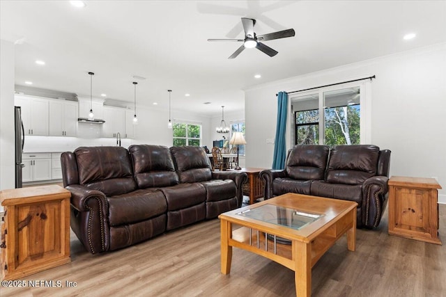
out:
M362 184L361 212L364 227L375 228L379 225L387 205L388 181L388 177L377 175Z

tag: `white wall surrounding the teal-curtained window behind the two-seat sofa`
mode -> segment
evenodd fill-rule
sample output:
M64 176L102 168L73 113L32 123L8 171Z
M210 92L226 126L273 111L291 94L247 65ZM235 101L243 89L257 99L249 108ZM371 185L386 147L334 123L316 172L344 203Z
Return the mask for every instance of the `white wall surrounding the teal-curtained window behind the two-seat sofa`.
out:
M275 137L276 93L373 74L371 143L392 150L390 175L438 177L443 186L439 201L446 203L446 43L246 90L246 165L272 165L274 145L266 144L266 138Z

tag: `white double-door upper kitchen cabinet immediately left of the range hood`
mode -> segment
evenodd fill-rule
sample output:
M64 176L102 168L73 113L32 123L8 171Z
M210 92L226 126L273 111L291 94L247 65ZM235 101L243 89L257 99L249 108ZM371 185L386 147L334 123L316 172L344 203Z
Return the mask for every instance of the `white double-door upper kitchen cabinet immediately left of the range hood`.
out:
M77 102L49 100L49 136L76 136L77 110Z

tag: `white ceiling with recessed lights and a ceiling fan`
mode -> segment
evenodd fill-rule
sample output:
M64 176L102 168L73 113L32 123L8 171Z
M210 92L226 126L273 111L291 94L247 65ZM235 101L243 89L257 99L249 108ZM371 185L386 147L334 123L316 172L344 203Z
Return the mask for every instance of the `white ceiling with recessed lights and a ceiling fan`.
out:
M0 38L15 42L15 83L220 115L244 108L243 90L262 83L446 41L446 1L69 1L0 0ZM240 17L269 40L270 58L240 44ZM413 40L403 35L414 32ZM36 65L37 59L46 65ZM261 79L254 79L261 74ZM185 97L190 93L190 97ZM203 104L211 102L211 104Z

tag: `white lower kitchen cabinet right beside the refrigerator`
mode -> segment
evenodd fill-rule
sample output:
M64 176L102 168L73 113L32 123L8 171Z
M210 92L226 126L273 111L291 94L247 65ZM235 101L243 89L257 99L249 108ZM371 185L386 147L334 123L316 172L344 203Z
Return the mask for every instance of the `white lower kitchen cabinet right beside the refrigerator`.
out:
M52 179L51 153L22 154L22 182L40 182Z

